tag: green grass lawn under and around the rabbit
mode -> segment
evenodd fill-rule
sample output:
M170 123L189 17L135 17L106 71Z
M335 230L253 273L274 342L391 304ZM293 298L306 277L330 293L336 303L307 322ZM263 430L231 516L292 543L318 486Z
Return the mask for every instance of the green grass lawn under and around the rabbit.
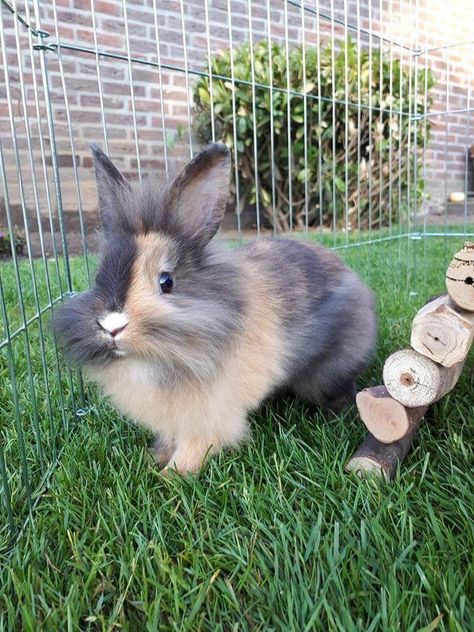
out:
M380 382L386 355L406 346L416 309L443 291L461 244L432 238L343 251L378 296L380 343L362 383ZM83 261L72 268L84 286ZM1 273L14 329L15 278L10 265ZM29 273L21 266L32 316ZM0 629L474 629L472 357L390 484L344 472L364 435L355 410L331 416L291 398L252 416L252 441L239 452L213 458L196 477L163 478L148 456L149 436L93 390L87 414L74 417L77 381L62 365L57 377L45 325L47 383L37 321L29 333L39 435L24 334L12 343L20 428L6 348L0 366L0 433L18 528L28 516L21 433L37 498L13 547L1 517Z

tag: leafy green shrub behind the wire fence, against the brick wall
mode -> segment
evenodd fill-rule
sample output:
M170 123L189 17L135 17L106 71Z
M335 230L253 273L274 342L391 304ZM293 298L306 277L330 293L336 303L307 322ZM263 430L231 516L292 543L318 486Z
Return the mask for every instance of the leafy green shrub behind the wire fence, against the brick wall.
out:
M234 84L230 80L231 52L221 52L211 59L212 106L209 78L200 78L194 88L194 130L203 142L211 139L213 113L216 138L234 148L235 107L239 210L256 202L258 190L266 223L276 222L276 228L287 229L290 173L291 223L297 228L305 225L306 206L310 226L321 221L331 225L334 217L341 225L347 210L348 227L364 228L385 225L390 219L396 222L404 210L420 202L420 158L428 140L429 123L415 121L431 103L426 96L426 88L433 85L430 73L419 70L415 77L406 59L390 62L388 54L381 56L380 50L373 50L371 56L364 50L358 54L349 39L334 53L330 45L326 46L319 60L316 48L306 48L304 82L302 50L297 47L289 52L288 97L285 47L276 43L271 46L272 91L267 42L254 44L253 57L255 109L248 43L233 51ZM345 102L349 103L347 108Z

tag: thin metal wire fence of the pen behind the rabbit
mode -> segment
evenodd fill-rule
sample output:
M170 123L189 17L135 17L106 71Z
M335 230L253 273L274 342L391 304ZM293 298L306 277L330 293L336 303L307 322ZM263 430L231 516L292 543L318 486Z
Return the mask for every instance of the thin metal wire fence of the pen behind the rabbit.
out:
M0 551L93 405L48 329L93 278L88 143L132 177L168 178L223 140L221 238L316 239L362 273L396 244L380 272L415 296L426 241L444 240L447 263L474 230L474 9L429 4L1 0Z

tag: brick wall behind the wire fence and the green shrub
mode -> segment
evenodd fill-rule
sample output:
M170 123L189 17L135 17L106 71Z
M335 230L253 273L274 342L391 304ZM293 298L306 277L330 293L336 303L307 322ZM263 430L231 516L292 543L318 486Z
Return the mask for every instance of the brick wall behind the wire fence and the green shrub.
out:
M156 22L154 5L158 7ZM30 45L40 40L30 37L22 24L15 24L13 16L2 7L7 79L26 205L34 207L38 199L41 214L46 214L48 191L53 215L56 205L47 99L40 68L42 54L48 69L64 207L73 214L78 205L72 170L74 153L80 202L87 215L95 208L90 140L105 145L106 136L109 153L128 173L137 171L137 145L143 173L173 170L189 156L190 141L193 143L188 135L191 87L194 73L207 69L208 50L228 48L230 37L236 45L250 37L267 38L268 33L272 41L284 43L288 33L290 45L303 39L307 46L316 45L318 26L321 41L334 35L338 46L346 33L357 38L354 29L342 26L347 22L353 26L359 23L362 47L382 42L385 54L389 55L391 49L406 67L415 70L427 65L433 71L433 132L425 155L431 199L425 210L430 211L430 217L440 212L447 193L464 190L466 148L474 142L474 125L466 113L459 111L473 107L470 68L474 46L463 42L473 39L474 4L471 0L451 0L449 5L442 0L335 0L331 6L329 0L314 0L306 2L306 8L302 13L284 0L127 0L124 14L120 0L48 0L39 5L38 23L31 5L17 3L18 13L28 23L50 33L43 40L45 45L57 41L88 49L97 45L101 50L126 56L128 29L132 57L156 63L159 54L160 70L135 62L129 65L126 59L100 57L97 61L95 55L67 46L59 52L57 48L45 53L32 51ZM321 16L319 24L315 9ZM389 41L395 43L390 46ZM454 46L446 48L446 44ZM419 55L409 50L433 48L436 50ZM0 131L8 194L19 213L20 180L3 77L1 84ZM443 114L446 111L452 113ZM33 164L27 151L28 129Z

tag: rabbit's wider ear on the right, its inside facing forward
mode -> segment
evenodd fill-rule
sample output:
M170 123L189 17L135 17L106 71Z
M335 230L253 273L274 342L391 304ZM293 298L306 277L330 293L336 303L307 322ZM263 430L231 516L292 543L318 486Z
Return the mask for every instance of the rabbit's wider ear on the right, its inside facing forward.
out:
M229 197L230 151L212 143L174 180L169 209L187 237L205 246L217 232Z

